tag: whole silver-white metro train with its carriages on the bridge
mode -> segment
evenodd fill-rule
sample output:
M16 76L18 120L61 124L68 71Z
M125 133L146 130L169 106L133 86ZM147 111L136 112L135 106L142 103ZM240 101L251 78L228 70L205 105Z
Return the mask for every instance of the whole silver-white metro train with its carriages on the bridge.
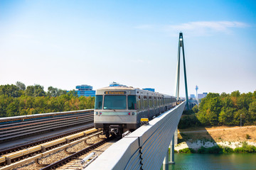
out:
M104 134L122 135L139 128L141 118L151 120L176 106L176 98L153 91L127 86L110 86L97 89L95 98L95 128Z

